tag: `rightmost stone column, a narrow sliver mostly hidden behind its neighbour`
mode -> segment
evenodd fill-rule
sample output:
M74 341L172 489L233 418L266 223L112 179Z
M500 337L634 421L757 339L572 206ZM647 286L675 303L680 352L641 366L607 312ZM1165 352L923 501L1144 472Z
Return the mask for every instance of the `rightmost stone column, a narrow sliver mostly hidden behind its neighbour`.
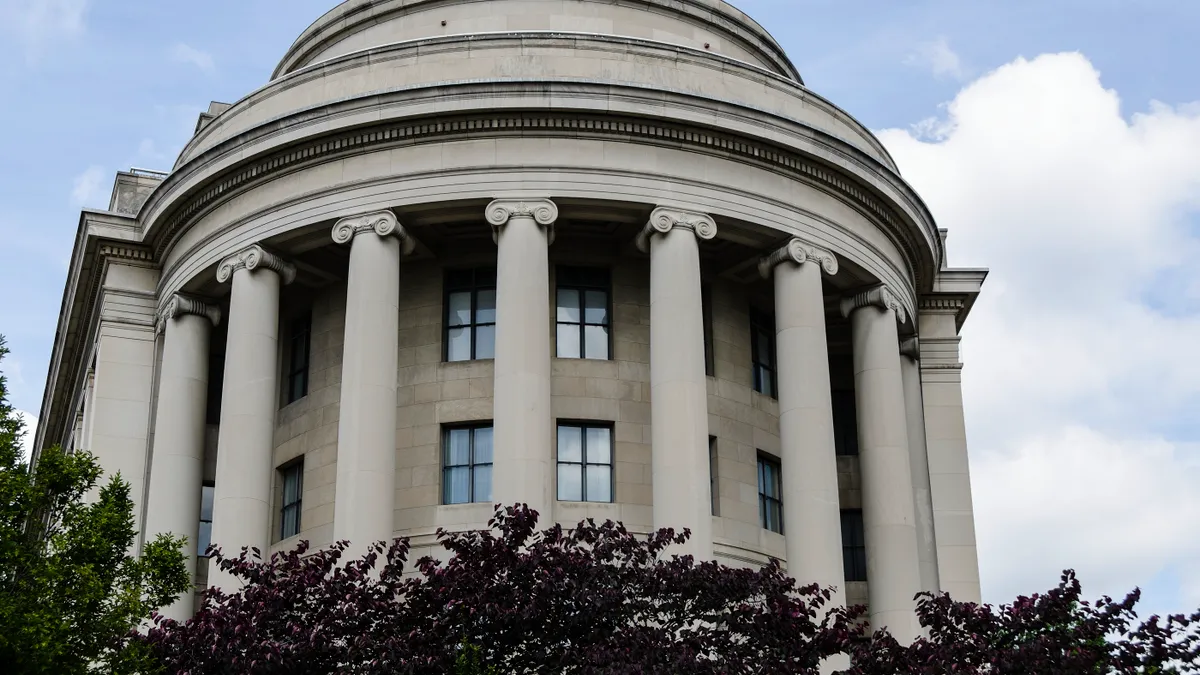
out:
M910 338L900 345L905 418L908 426L908 465L912 468L912 506L917 516L917 560L920 590L941 592L937 579L937 538L934 536L934 500L929 489L929 452L925 446L925 404L920 392L920 344Z

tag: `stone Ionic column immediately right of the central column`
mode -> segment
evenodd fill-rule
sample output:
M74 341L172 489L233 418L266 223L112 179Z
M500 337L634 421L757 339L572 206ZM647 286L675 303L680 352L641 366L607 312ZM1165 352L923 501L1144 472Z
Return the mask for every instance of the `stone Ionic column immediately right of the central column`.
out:
M708 389L700 244L716 237L706 214L658 208L637 235L650 253L650 428L654 526L691 530L680 554L713 557Z

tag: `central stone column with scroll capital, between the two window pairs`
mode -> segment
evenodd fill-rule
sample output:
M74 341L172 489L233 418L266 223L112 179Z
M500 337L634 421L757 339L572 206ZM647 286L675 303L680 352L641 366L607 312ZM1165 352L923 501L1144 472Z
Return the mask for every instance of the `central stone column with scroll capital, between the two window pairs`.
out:
M554 521L550 408L550 255L558 207L550 199L487 205L496 257L493 501L527 503Z

